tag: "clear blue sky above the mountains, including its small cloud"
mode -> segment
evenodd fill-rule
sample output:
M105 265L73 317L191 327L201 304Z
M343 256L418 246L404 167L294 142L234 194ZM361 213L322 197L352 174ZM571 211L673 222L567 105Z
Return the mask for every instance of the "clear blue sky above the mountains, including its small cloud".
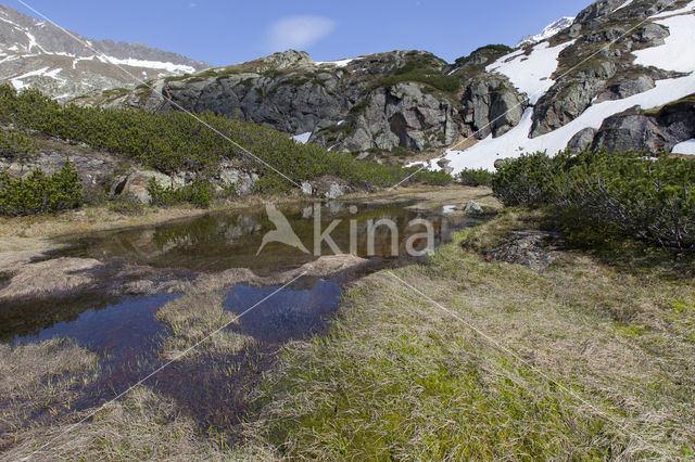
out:
M591 0L25 0L85 37L141 42L213 65L298 48L316 61L427 50L448 62L514 46ZM15 0L5 4L34 13Z

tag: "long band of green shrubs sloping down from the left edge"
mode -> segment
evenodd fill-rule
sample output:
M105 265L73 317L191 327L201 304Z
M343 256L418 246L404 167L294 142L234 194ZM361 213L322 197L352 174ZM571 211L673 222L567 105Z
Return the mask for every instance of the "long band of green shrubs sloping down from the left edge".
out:
M164 172L185 169L205 178L223 158L239 158L263 175L277 177L277 182L288 181L274 169L296 183L333 175L355 185L381 188L416 171L354 161L315 144L300 145L271 129L210 112L198 117L203 124L179 112L154 114L144 110L61 106L38 91L17 94L9 86L0 87L0 123L13 124L25 132L83 142ZM248 149L253 156L219 133ZM413 180L441 183L443 177L422 171Z

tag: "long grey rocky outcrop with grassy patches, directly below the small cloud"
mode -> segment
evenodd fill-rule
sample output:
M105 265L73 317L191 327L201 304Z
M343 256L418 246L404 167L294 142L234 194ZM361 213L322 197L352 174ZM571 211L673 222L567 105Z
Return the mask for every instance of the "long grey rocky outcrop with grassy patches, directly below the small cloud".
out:
M415 77L397 76L409 68L418 69L418 76L439 75L445 64L430 53L394 51L341 67L315 63L306 53L290 50L167 79L150 93L134 92L102 105L212 111L288 133L313 133L311 142L342 152L397 146L424 151L448 145L458 137L463 124L456 95Z

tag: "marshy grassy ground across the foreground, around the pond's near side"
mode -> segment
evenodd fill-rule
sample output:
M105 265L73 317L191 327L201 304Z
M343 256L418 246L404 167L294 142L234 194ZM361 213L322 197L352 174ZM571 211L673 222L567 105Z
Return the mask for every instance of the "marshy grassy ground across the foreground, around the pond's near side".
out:
M463 191L410 191L408 205L495 205L489 190ZM321 274L359 261L305 266L315 279L294 288L318 287L337 311L316 335L274 331L277 343L235 329L243 318L227 291L250 300L243 291L296 272L179 281L155 310L165 330L142 370L232 329L103 408L78 406L112 373L98 352L67 339L0 346L0 459L693 457L693 261L634 242L570 241L540 271L491 257L513 231L539 229L556 231L542 211L503 210L426 260L341 280L342 295ZM270 323L296 322L292 306L319 309L306 296ZM254 325L268 322L258 316Z

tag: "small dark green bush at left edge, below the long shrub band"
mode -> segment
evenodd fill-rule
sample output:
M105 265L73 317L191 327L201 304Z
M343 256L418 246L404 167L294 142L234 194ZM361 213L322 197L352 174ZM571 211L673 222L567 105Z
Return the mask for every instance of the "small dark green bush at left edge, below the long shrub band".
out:
M81 179L70 162L50 177L40 168L17 180L0 174L0 216L48 214L77 208L81 203Z

